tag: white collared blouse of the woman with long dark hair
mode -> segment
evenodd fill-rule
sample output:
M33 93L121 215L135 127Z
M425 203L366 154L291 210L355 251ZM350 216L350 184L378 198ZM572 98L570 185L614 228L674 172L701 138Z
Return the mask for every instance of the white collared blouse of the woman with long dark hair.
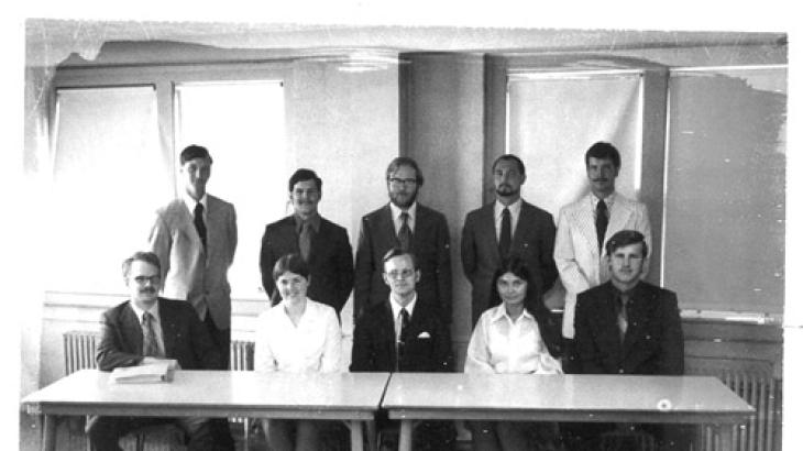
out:
M515 321L501 304L483 312L471 334L465 373L562 374L527 310Z

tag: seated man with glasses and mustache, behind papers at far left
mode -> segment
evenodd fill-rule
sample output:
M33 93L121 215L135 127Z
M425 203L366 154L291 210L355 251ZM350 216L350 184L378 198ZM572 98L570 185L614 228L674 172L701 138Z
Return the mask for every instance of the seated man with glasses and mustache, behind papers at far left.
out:
M218 366L218 351L193 306L157 296L160 274L158 257L152 252L138 252L123 262L131 299L101 316L96 354L100 371L164 360L174 360L184 370ZM218 449L207 418L94 417L87 424L87 435L96 450L120 450L120 437L143 426L164 422L174 422L185 431L189 450Z

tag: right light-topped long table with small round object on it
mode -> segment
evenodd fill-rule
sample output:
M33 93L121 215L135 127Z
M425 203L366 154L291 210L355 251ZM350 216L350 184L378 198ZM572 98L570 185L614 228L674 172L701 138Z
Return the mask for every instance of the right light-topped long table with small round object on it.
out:
M755 409L715 377L394 373L382 402L399 450L427 419L711 425L719 449Z

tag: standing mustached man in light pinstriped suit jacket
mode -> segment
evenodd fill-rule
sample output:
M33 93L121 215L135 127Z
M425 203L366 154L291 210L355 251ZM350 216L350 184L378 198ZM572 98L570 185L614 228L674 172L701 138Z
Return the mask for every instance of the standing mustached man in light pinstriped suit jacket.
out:
M566 373L578 370L574 352L574 306L579 293L595 287L608 278L603 244L614 233L632 229L645 235L650 246L650 220L647 206L616 193L616 177L622 158L610 143L594 143L585 153L585 174L591 193L574 204L564 206L558 217L554 262L566 289L563 307L563 337L565 340ZM641 277L647 275L649 254Z

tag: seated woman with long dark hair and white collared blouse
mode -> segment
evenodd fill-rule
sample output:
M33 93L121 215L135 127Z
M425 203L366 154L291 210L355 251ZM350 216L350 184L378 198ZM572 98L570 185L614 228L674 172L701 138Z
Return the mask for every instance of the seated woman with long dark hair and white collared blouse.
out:
M562 374L557 353L560 323L532 284L518 257L506 260L494 274L491 307L474 327L465 356L465 373ZM558 425L543 422L470 422L474 450L561 449Z

